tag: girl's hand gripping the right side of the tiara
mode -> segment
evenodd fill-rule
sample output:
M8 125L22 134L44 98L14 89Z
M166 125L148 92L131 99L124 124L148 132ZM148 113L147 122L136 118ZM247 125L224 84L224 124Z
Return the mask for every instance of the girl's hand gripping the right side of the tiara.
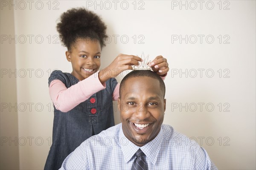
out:
M163 56L157 56L153 61L148 64L154 72L159 76L166 76L169 71L168 62Z

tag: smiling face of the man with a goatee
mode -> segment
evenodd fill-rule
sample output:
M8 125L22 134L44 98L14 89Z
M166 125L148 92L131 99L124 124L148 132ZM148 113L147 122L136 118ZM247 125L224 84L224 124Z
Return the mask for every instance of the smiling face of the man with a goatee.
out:
M122 130L137 146L154 139L161 129L166 99L160 83L151 77L132 77L125 81L118 99Z

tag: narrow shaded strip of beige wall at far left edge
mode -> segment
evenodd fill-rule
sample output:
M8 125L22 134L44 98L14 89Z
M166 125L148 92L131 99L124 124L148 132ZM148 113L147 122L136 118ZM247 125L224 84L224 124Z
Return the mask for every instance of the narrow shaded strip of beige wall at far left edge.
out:
M15 34L14 10L1 9L0 34ZM2 40L2 37L1 37ZM19 169L17 79L9 77L9 69L15 70L15 44L0 44L0 169ZM3 76L7 74L8 76ZM9 107L11 106L11 107ZM14 107L12 107L14 106Z

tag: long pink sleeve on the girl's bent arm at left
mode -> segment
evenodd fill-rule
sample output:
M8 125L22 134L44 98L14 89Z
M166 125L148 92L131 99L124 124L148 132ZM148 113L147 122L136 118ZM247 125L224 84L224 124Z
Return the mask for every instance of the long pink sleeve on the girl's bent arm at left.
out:
M99 81L93 74L90 77L67 88L61 80L53 80L49 85L49 94L57 110L70 111L90 96L106 88L106 84Z

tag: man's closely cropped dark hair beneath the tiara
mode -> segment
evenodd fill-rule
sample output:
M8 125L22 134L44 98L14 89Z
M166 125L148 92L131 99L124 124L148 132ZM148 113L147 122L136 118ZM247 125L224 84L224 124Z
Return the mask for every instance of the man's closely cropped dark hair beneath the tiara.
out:
M134 70L134 71L131 71L130 73L128 73L122 79L122 81L120 83L120 88L119 88L119 96L120 97L122 95L122 91L123 91L123 87L125 85L125 81L127 79L130 79L130 78L133 78L133 77L137 77L138 79L143 79L143 77L151 77L153 79L157 79L159 81L159 83L160 83L161 93L163 94L163 98L164 98L166 87L165 87L165 84L163 82L163 79L161 79L161 77L158 74L156 74L155 72L150 71L150 70Z

